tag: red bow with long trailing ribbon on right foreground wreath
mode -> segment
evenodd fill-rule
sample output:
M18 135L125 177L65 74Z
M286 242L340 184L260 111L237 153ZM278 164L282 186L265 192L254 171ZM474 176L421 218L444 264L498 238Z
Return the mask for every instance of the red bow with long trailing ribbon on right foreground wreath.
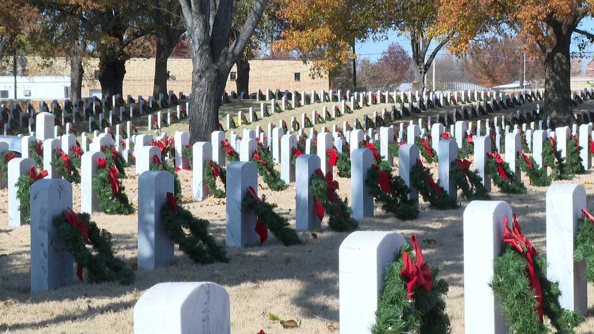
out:
M503 242L506 244L510 244L512 247L516 248L521 254L526 252L526 273L529 279L529 286L530 288L534 289L536 295L536 311L538 312L538 316L540 317L542 323L542 288L541 283L538 281L538 277L536 277L536 272L534 270L534 261L532 256L538 254L536 248L532 246L528 238L522 235L522 229L520 228L520 224L517 221L516 213L514 212L514 222L513 222L513 231L507 227L507 219L503 219ZM526 250L524 250L526 248Z

